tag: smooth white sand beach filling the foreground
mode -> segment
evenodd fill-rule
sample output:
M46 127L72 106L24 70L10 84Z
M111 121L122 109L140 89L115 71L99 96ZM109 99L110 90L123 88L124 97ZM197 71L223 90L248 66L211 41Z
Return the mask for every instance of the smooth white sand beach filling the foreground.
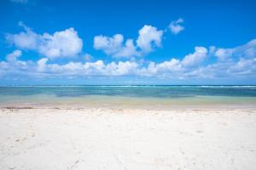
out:
M256 110L1 109L0 169L255 169Z

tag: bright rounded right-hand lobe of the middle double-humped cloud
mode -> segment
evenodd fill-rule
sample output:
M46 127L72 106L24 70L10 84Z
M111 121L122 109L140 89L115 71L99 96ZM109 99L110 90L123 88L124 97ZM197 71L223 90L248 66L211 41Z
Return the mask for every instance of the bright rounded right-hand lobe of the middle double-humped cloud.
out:
M160 47L163 31L158 31L154 26L143 26L139 31L137 46L142 49L143 54L150 53L154 47Z

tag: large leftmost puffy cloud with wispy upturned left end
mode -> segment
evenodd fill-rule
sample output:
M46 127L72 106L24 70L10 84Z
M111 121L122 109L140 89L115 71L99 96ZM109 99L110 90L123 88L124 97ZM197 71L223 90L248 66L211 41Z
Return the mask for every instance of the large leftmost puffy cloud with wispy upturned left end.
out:
M6 40L20 49L38 51L49 59L60 57L73 57L79 54L83 47L83 42L79 38L77 31L68 28L65 31L55 31L54 34L37 34L22 23L25 31L19 34L7 34Z

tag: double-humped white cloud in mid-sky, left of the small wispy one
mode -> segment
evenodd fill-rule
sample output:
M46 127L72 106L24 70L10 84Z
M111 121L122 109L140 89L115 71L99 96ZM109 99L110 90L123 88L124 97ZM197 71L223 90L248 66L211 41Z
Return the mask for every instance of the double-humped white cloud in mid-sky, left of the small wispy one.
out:
M102 50L105 54L113 57L135 57L150 53L155 47L160 47L163 31L154 26L143 26L138 31L137 45L133 39L124 42L124 36L116 34L113 37L94 37L94 48Z

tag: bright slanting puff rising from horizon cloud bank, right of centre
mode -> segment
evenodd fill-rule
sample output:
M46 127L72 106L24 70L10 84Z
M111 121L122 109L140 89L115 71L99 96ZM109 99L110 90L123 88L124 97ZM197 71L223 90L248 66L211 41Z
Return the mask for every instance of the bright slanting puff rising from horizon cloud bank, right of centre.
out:
M201 64L201 62L207 57L207 48L195 47L195 52L193 54L188 54L182 60L184 66L196 66Z

